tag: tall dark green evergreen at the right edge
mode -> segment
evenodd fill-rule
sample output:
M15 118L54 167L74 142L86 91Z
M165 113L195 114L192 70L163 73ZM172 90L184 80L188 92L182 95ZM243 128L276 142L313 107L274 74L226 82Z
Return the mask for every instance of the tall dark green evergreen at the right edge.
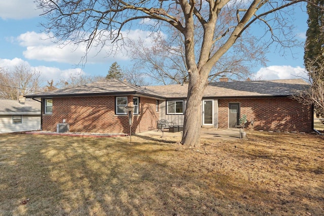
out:
M314 61L317 62L317 68L320 68L324 61L324 10L320 8L323 6L324 0L315 0L313 4L308 3L307 5L308 29L306 31L304 63L308 71L309 65L312 65L312 69L314 69L316 65L316 63L314 65Z

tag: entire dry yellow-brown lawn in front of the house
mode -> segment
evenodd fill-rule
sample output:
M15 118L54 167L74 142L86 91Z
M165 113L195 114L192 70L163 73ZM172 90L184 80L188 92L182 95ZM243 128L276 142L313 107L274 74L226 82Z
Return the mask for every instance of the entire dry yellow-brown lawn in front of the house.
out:
M323 136L248 138L0 135L0 215L323 215Z

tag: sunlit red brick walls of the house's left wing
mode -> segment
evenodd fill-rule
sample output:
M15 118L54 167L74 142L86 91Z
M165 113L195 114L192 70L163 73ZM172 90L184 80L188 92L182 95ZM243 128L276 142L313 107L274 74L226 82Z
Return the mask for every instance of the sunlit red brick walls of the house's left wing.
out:
M156 128L155 100L140 98L139 115L133 116L132 133ZM133 106L133 96L128 96ZM53 114L43 115L43 130L56 131L57 123L70 124L70 132L130 133L128 115L115 115L115 97L53 98Z

